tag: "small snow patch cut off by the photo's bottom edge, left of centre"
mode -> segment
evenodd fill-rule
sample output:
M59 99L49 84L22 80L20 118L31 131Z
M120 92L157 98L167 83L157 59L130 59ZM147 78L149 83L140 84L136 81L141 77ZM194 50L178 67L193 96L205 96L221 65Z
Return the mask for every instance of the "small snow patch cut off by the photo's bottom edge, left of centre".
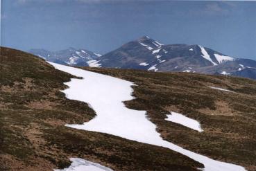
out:
M98 163L93 163L79 158L71 158L70 161L72 161L72 163L69 168L62 170L56 169L54 171L113 171L112 169L106 168Z

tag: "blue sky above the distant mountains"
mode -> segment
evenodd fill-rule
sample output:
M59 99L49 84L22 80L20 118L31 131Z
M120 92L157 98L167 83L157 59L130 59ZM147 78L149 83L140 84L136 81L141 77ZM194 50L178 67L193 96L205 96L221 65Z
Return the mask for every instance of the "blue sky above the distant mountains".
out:
M1 0L1 45L107 53L148 35L256 60L256 1Z

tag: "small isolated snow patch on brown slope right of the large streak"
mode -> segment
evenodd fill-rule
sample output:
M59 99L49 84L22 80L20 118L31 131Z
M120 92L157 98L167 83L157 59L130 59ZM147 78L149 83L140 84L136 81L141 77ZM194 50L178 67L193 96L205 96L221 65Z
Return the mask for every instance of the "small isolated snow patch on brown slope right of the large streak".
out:
M171 121L173 123L178 123L180 125L183 125L185 127L189 127L191 129L194 129L198 132L203 132L203 129L200 127L200 123L198 123L197 120L188 118L187 116L184 116L182 114L178 114L176 112L171 111L170 115L167 115L167 118L165 120Z

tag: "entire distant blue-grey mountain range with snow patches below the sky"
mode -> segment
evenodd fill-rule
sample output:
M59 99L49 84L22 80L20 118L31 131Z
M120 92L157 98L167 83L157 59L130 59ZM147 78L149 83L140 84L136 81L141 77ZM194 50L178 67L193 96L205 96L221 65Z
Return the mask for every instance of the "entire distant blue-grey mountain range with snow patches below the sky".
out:
M148 36L123 44L105 55L69 48L58 52L29 51L59 64L148 71L234 75L256 79L256 61L230 57L200 45L161 44Z

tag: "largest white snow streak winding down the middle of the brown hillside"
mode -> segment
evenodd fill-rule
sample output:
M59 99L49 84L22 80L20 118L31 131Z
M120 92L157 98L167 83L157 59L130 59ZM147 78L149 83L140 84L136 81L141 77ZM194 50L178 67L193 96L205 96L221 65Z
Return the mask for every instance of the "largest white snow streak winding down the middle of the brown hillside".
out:
M156 132L156 126L146 118L146 111L128 109L123 101L132 100L133 82L113 78L108 75L93 73L70 66L50 63L59 69L72 75L82 77L71 79L65 84L69 86L63 92L71 100L87 102L96 112L96 117L83 125L67 125L69 127L84 129L93 132L103 132L127 138L133 141L167 147L184 154L195 161L205 165L205 171L244 171L239 165L215 161L185 150L178 145L164 141Z

